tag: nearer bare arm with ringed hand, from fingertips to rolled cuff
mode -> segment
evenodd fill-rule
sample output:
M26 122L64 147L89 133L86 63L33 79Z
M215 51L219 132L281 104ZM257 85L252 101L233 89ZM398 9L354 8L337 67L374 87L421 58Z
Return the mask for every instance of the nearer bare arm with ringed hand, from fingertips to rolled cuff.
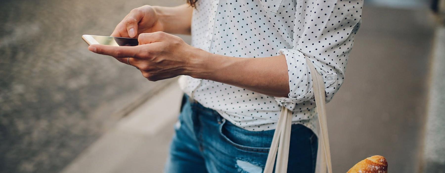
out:
M133 65L151 81L179 75L213 80L270 96L287 97L287 63L284 55L236 58L206 52L165 32L139 35L138 46L93 44L92 52L115 57ZM130 57L129 59L127 57Z

